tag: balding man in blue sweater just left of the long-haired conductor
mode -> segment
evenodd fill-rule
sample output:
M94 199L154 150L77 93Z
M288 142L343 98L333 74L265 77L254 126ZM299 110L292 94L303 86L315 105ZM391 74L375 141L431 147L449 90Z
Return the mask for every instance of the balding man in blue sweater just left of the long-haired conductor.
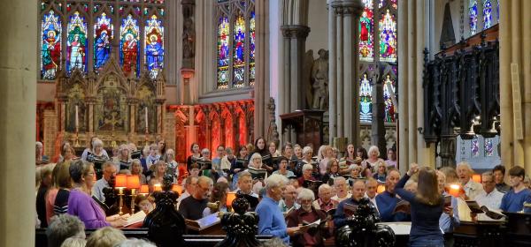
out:
M381 221L408 221L409 216L406 213L393 213L396 203L400 201L396 198L395 186L400 180L400 172L397 169L390 169L388 176L385 178L385 191L376 196L376 206L380 212Z

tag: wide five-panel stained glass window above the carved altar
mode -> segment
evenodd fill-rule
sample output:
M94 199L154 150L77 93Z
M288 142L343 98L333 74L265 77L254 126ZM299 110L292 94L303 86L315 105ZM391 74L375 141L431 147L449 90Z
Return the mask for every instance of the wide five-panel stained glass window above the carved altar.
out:
M39 79L52 82L59 70L70 74L76 68L85 74L97 73L112 58L125 76L134 72L139 77L142 68L147 68L156 77L165 60L165 2L39 1Z

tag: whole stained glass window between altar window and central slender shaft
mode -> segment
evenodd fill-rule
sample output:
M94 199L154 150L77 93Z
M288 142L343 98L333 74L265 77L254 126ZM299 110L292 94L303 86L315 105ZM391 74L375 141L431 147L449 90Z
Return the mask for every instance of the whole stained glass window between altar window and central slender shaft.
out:
M217 88L253 86L255 81L254 0L218 0Z

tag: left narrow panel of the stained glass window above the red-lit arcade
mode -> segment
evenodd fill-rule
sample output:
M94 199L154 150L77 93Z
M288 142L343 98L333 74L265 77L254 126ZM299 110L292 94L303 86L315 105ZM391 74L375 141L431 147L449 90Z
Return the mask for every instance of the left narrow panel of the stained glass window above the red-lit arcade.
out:
M228 88L228 61L230 60L230 55L228 51L228 40L229 40L229 27L228 27L228 17L221 16L219 18L218 26L218 88L225 89Z

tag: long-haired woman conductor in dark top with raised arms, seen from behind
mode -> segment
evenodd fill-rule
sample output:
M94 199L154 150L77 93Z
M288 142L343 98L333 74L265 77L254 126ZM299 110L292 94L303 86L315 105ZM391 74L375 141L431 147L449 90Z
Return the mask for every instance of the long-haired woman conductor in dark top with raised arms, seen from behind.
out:
M414 194L404 189L410 177L419 173L419 191ZM439 219L443 214L444 198L439 192L437 175L432 168L419 168L412 163L409 171L396 183L396 194L411 204L412 228L409 244L411 247L443 247L444 238Z

